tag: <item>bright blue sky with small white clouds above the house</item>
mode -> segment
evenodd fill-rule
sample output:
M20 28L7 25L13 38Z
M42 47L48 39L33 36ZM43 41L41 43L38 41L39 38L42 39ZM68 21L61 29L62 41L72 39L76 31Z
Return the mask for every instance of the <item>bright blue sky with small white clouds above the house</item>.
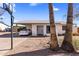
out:
M66 21L66 17L64 15L67 14L68 4L54 3L53 5L55 21ZM14 9L15 12L13 15L15 17L15 22L19 20L49 20L47 3L16 3ZM6 20L4 19L4 22L10 24L10 16L8 13L6 12L4 16L6 18ZM78 24L78 21L75 20L74 22Z

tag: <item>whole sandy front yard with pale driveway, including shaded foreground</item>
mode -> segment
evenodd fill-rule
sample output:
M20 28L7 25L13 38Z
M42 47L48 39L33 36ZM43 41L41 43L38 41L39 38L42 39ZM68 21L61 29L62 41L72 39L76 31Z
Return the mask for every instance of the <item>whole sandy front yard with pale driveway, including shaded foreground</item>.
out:
M2 35L5 33L2 33ZM6 33L8 34L8 33ZM10 34L10 33L9 33ZM74 36L74 48L78 52L79 36ZM61 46L63 36L58 36L58 44ZM10 50L10 37L0 37L0 55L14 55L14 56L50 56L50 55L78 55L75 53L67 53L66 51L51 51L49 49L50 37L14 37L13 50Z

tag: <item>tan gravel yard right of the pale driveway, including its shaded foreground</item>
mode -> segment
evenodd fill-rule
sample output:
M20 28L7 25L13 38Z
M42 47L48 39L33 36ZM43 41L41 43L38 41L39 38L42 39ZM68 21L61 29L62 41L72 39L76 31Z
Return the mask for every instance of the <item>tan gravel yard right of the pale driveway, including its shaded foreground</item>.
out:
M7 52L8 56L78 56L78 53L68 53L63 50L49 49L49 37L28 38L13 50Z

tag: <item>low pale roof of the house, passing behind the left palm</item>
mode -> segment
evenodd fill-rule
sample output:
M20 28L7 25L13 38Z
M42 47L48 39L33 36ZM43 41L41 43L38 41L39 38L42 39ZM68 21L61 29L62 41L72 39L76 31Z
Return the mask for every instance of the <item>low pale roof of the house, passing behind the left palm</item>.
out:
M49 20L21 20L14 22L14 24L49 24ZM65 22L59 21L56 24L65 24Z

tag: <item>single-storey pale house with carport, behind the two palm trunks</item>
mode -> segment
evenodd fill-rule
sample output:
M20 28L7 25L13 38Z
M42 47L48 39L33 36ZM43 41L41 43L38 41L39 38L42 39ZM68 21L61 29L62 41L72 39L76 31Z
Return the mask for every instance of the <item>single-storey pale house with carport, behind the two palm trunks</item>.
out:
M56 25L56 33L64 34L65 33L65 22L57 22ZM13 31L18 32L20 27L26 27L26 29L30 29L32 32L32 36L48 36L50 35L50 23L49 20L22 20L14 23ZM73 26L73 33L77 33L77 27Z

